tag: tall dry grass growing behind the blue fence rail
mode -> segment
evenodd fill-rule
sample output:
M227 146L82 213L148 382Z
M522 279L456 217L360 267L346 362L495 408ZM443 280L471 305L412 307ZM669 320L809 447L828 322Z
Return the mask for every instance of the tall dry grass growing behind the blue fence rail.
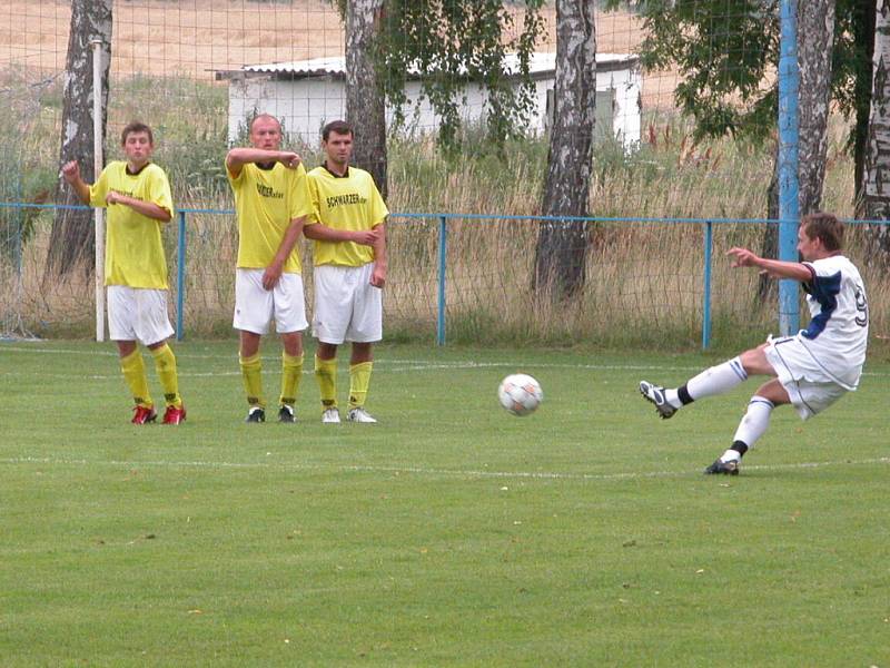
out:
M13 87L14 88L14 87ZM26 87L27 88L27 87ZM27 98L27 89L19 97ZM9 88L8 90L12 90ZM52 170L58 155L58 90L44 86L24 111L0 124L0 144L18 140L23 126L39 120L19 151L24 171ZM34 107L34 105L37 107ZM40 112L34 116L34 108ZM225 87L180 77L132 77L115 82L109 110L109 155L117 155L113 132L139 117L157 130L156 160L164 166L181 208L230 208L224 156L227 144ZM37 120L36 120L37 119ZM852 215L853 169L844 151L849 128L831 120L823 208ZM18 132L18 135L17 135ZM695 144L689 124L663 110L644 124L639 150L617 143L596 147L590 212L613 218L758 218L767 213L772 173L769 146L732 139ZM459 158L446 159L428 137L389 141L389 208L393 212L532 216L541 210L547 163L543 138L516 139L503 150L486 146L478 128L462 137ZM320 156L304 150L307 167ZM14 155L14 151L10 151ZM39 164L34 156L40 157ZM9 194L6 195L10 198ZM21 277L4 267L7 310L22 313L42 335L91 332L89 276L47 285L41 267L51 216L38 227L23 254ZM393 217L388 226L390 285L386 292L389 335L431 338L437 299L438 226L429 219ZM722 225L715 232L712 311L714 341L751 343L775 328L774 297L758 296L756 276L732 272L722 258L730 245L760 247L763 226ZM852 235L849 254L864 264L862 235ZM171 277L175 232L167 235ZM453 219L448 224L446 302L448 337L466 342L536 342L570 345L695 347L704 295L703 227L652 223L587 225L590 252L585 288L570 302L532 289L537 223ZM237 232L234 216L188 217L186 331L190 335L227 333L233 303ZM310 266L308 248L305 265ZM312 298L310 273L306 273ZM888 288L882 273L869 277L876 331L887 330ZM24 286L24 289L21 287ZM171 287L176 287L172 285ZM22 293L27 298L22 299ZM11 306L10 306L11 304Z

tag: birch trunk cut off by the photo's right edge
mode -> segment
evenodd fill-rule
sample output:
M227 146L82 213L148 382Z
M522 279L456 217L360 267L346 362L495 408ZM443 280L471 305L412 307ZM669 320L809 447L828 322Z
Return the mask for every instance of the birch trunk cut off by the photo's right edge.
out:
M874 75L866 154L866 217L890 220L890 0L877 0ZM890 265L890 229L870 229L869 264Z

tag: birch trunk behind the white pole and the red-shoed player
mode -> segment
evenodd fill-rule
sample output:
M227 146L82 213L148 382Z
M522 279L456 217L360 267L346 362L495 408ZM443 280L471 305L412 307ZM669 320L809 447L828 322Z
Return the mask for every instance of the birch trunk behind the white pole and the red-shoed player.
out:
M90 40L102 40L102 119L105 136L108 118L108 69L111 63L112 0L73 0L68 58L65 68L65 104L59 166L69 160L80 164L83 180L96 179L92 141L92 48ZM56 197L59 204L81 204L77 193L60 179ZM95 267L96 228L86 210L57 209L47 261L48 276L61 276L83 261Z

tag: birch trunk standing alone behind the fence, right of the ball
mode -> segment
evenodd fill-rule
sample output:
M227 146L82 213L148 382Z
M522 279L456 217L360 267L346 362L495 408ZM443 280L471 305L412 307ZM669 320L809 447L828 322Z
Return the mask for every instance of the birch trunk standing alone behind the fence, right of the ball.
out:
M556 0L556 80L542 214L585 216L590 199L596 96L595 0ZM584 285L586 224L542 223L535 249L535 288L557 298Z

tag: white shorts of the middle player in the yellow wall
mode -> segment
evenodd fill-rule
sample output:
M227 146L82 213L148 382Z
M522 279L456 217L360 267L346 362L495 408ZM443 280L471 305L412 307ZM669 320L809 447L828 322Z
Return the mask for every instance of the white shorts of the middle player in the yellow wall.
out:
M263 287L266 269L235 269L236 330L267 334L275 318L275 331L279 334L301 332L306 322L306 298L303 294L303 276L281 274L271 289Z

